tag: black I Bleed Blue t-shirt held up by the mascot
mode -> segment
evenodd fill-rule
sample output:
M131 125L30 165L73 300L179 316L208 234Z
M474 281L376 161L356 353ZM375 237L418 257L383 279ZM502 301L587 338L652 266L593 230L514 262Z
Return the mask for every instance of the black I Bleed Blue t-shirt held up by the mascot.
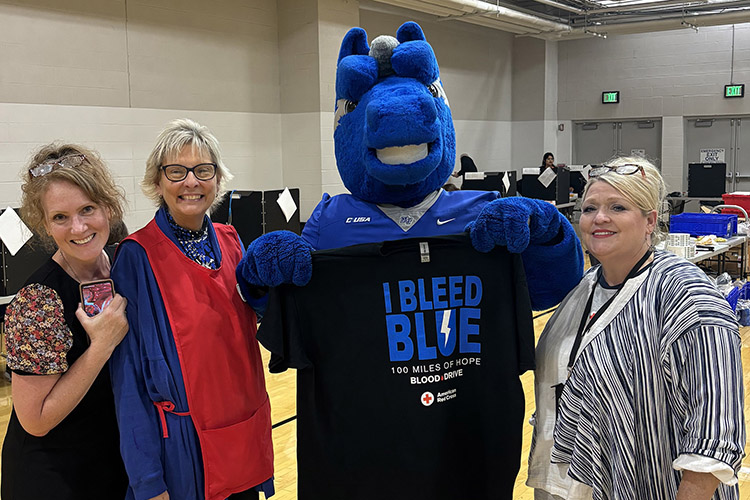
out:
M466 235L315 252L258 340L298 369L300 500L512 498L534 368L519 255Z

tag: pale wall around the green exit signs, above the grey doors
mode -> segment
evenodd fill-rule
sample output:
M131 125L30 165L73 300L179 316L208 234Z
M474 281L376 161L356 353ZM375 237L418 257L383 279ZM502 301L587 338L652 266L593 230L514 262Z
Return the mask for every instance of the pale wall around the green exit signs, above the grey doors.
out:
M684 191L689 117L747 115L750 95L725 99L724 85L750 84L750 25L559 42L558 117L567 120L662 119L662 173ZM601 104L620 90L620 104Z

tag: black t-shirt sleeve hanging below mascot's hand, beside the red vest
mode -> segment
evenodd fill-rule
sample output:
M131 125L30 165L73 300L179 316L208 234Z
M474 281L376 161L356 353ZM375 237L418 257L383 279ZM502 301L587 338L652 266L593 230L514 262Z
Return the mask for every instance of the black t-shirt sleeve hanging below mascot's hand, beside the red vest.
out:
M297 309L295 288L293 285L271 288L268 308L258 329L258 342L271 351L268 363L271 373L312 366L305 354L304 322Z

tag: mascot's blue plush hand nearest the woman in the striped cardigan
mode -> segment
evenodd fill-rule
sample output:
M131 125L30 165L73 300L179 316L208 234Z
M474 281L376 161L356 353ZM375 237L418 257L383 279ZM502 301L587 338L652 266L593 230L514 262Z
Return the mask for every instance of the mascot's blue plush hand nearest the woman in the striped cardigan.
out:
M522 253L529 244L552 240L560 231L563 215L552 203L514 196L493 200L482 209L473 222L466 225L471 243L480 252L495 246L507 246L513 253Z

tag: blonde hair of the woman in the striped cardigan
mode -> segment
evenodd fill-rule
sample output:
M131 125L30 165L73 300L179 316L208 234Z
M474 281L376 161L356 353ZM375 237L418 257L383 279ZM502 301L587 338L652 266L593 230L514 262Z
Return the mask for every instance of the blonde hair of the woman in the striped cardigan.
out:
M620 156L608 160L605 163L608 167L618 167L621 165L638 165L643 168L644 175L636 172L630 175L622 175L616 172L607 172L597 177L592 177L586 183L583 190L583 199L586 199L589 189L597 182L606 182L626 200L638 207L643 216L650 212L656 211L657 224L654 226L654 232L651 234L651 244L654 245L663 238L658 221L661 220L664 212L664 200L667 196L667 186L659 170L653 163L641 157Z

